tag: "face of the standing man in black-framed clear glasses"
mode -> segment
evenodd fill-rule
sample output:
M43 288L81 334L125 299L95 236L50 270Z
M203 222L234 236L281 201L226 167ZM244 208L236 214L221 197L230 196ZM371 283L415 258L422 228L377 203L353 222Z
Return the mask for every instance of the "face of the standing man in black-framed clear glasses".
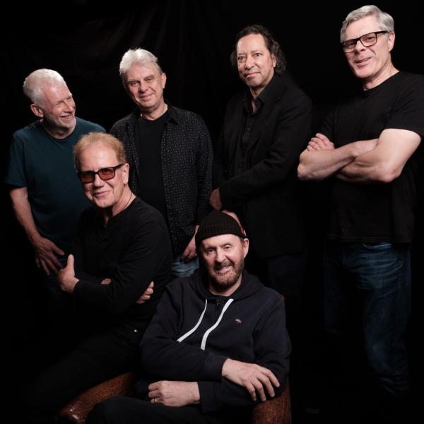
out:
M365 16L353 21L346 28L345 41L382 30L375 16ZM345 53L348 64L357 78L363 81L365 89L378 86L396 73L391 63L390 52L394 46L394 33L377 35L377 42L364 47L360 41L353 52Z

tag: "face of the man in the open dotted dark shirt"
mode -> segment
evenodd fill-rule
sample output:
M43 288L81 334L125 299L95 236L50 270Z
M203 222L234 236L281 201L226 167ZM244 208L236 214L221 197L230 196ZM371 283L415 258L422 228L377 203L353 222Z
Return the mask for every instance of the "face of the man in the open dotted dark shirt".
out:
M166 75L160 73L155 63L134 64L124 73L123 82L126 92L141 112L151 114L164 106L163 89Z

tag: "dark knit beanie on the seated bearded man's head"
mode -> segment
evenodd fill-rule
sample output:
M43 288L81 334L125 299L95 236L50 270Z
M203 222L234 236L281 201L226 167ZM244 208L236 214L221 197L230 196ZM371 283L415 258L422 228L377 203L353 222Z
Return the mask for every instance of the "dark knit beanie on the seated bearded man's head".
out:
M228 215L220 211L212 211L200 223L199 230L196 232L196 247L199 247L202 240L216 235L234 234L245 238L246 233L239 223Z

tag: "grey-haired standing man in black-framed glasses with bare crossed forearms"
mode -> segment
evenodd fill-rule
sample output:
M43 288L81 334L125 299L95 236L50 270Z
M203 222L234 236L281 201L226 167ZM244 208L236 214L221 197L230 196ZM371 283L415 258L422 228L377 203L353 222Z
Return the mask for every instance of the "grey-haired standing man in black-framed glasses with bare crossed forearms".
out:
M326 331L340 349L348 305L357 296L365 352L380 395L376 404L399 412L409 392L404 332L411 311L424 77L394 67L394 39L393 18L376 6L348 14L341 47L363 90L329 114L322 132L300 155L298 175L331 177L324 255ZM340 351L338 358L343 358ZM396 411L387 415L399 419Z

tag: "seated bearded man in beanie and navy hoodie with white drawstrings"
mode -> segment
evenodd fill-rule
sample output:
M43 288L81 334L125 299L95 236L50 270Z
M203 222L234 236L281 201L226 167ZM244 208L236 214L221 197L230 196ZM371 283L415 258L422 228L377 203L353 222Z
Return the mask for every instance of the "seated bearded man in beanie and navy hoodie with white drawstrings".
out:
M254 404L283 391L290 353L284 303L244 271L244 231L213 211L196 248L201 269L167 286L141 341L146 374L136 392L144 400L108 399L87 424L245 424Z

